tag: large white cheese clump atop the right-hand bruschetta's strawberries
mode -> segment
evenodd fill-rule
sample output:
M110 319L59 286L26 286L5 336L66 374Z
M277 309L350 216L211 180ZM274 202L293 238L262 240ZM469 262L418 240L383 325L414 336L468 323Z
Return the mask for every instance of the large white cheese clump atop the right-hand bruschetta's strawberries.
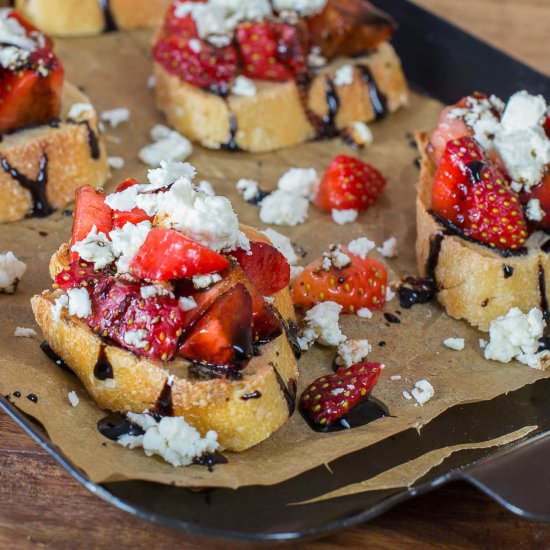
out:
M540 183L550 163L550 140L542 127L546 110L542 96L517 92L495 131L495 149L512 180L525 190Z

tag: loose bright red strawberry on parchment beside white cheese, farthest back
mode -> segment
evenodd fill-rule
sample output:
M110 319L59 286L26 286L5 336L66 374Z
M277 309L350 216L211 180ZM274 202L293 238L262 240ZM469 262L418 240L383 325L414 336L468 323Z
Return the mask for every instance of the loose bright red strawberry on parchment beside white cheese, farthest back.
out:
M319 185L315 204L324 210L366 210L382 194L386 180L370 164L347 155L330 163Z

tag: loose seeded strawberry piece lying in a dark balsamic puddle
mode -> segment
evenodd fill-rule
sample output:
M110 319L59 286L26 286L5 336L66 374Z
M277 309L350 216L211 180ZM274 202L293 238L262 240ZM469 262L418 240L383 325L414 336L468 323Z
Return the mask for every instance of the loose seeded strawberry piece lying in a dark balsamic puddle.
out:
M380 363L341 367L306 388L300 398L300 409L316 426L329 427L369 396L381 371Z

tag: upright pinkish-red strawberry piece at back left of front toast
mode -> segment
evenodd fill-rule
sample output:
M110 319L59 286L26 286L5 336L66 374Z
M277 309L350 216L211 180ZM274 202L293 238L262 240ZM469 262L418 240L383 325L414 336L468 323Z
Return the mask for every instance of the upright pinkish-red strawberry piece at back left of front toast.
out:
M71 246L83 240L95 226L106 235L113 228L113 211L105 204L105 195L91 185L76 190Z

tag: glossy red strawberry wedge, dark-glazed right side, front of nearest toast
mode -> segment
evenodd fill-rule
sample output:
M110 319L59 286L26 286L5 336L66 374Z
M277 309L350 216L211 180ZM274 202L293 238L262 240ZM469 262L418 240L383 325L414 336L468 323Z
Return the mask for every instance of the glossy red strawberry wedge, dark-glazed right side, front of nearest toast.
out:
M252 357L252 299L243 284L220 296L185 338L190 361L242 367Z

